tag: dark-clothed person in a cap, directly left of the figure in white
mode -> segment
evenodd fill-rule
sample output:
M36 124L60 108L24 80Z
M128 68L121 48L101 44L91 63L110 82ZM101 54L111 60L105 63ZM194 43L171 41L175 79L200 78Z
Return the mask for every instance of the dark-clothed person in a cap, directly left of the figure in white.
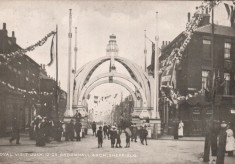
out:
M218 150L217 150L216 164L224 164L225 146L226 146L226 138L227 138L226 122L222 121L220 126L221 126L221 129L219 133L219 144L218 144Z

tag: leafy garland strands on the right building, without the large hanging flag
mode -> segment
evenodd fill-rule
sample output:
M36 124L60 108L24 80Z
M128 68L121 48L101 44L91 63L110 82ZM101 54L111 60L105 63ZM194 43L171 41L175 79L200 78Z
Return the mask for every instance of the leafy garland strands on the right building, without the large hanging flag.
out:
M192 16L192 19L190 20L190 22L188 22L186 25L186 30L184 31L185 39L182 42L181 46L179 48L174 48L172 52L170 53L170 55L161 62L161 65L160 65L161 68L159 71L160 74L163 74L165 71L167 71L167 68L169 67L173 68L175 65L179 65L181 63L183 52L185 51L187 45L191 41L193 32L195 31L195 29L198 28L198 25L201 22L203 18L202 14L204 10L208 10L210 12L212 8L219 5L220 2L221 2L220 0L202 2L202 4L197 8L196 12ZM170 102L170 105L171 104L177 105L179 102L185 101L191 97L195 97L198 94L203 93L203 90L200 90L200 91L194 92L193 95L188 94L186 96L181 96L179 95L179 93L176 93L174 91L174 86L172 86L172 84L164 86L164 87L169 89L170 96L167 97L167 100Z

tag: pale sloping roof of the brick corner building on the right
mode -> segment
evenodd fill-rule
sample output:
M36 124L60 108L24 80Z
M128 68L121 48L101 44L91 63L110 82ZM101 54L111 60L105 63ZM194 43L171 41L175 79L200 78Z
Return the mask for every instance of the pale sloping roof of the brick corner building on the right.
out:
M200 33L208 33L211 34L211 24L199 27L198 29L195 30L195 32L200 32ZM229 27L229 26L222 26L222 25L214 25L215 35L222 35L222 36L230 36L230 37L235 37L235 28Z

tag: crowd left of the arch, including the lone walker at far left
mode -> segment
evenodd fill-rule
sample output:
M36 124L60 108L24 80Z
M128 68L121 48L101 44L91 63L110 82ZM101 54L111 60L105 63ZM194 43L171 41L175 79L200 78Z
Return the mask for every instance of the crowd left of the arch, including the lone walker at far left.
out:
M69 123L53 121L47 117L36 116L30 124L29 138L35 140L36 146L45 146L51 141L61 142L62 137L65 141L81 140L82 124L79 117L71 119ZM12 122L12 136L9 142L16 140L20 144L20 126L17 118Z

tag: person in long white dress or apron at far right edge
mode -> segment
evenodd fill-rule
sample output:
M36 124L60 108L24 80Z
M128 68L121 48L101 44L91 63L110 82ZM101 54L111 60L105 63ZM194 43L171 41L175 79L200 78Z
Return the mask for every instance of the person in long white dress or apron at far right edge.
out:
M231 129L230 123L228 123L226 133L227 133L226 152L228 152L228 156L233 156L233 151L235 150L235 142L234 142L233 130Z

